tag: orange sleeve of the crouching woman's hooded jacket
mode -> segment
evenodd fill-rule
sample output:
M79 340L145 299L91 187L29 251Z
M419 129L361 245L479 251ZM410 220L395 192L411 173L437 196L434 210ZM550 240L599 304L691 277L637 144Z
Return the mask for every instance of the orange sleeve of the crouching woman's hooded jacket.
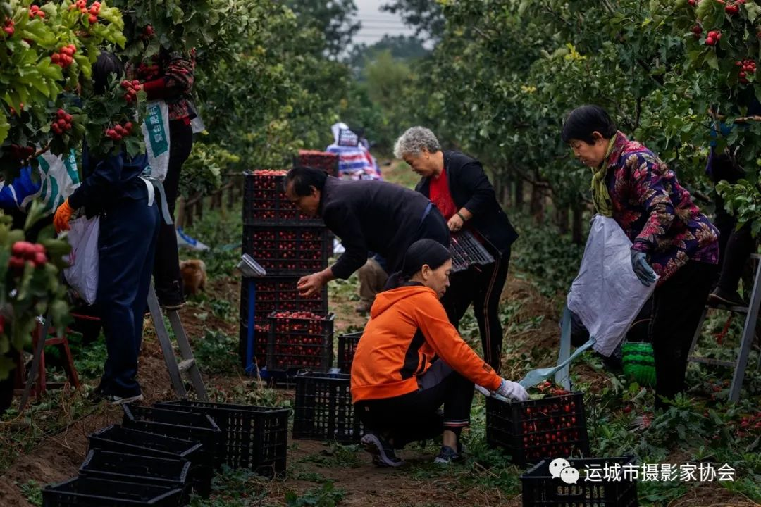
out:
M501 377L460 337L435 294L426 293L417 303L414 306L417 325L436 355L470 382L495 391Z

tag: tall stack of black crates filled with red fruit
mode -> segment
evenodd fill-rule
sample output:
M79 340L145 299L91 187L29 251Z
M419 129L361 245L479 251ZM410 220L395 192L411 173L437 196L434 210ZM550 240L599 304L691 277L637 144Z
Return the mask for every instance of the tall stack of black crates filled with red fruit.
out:
M332 236L320 218L301 214L285 196L285 173L253 170L244 174L243 252L267 274L242 280L239 341L241 364L247 367L249 291L253 281L253 361L257 368L250 371L258 370L263 379L284 381L288 372L304 366L319 371L330 367L333 360L333 318L328 315L327 288L310 298L299 296L296 288L299 278L327 268L333 253ZM310 312L318 319L308 322L310 317L302 313L282 322L276 315L282 312ZM315 333L317 336L312 335ZM307 343L294 343L301 337ZM315 338L319 343L312 343ZM288 343L281 344L279 340ZM307 349L297 348L301 345Z

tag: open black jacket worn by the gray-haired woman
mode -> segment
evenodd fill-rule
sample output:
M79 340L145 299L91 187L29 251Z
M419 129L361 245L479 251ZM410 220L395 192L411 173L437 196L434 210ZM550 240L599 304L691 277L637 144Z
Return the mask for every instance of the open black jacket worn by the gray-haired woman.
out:
M518 234L497 202L481 163L459 151L444 151L444 170L457 210L464 207L473 214L466 227L476 230L498 252L508 252ZM430 178L421 179L415 189L430 197Z

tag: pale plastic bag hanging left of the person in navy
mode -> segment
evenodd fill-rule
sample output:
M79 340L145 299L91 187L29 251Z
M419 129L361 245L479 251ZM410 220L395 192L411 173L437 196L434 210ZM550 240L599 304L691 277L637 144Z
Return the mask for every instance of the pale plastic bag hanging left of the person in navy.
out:
M63 270L63 275L79 296L91 305L95 303L97 296L97 239L100 233L100 217L79 217L69 225L71 230L66 237L72 246L72 252L67 259L69 268Z

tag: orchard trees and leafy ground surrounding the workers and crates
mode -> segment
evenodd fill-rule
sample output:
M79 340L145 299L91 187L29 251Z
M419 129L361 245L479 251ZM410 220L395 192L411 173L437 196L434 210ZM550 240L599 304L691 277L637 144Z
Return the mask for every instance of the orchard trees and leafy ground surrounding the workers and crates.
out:
M520 226L502 318L505 372L517 376L556 356L557 318L575 276L591 217L589 173L559 136L562 118L582 103L606 107L627 135L644 142L675 170L701 208L713 213L721 192L740 222L761 227L761 119L748 108L761 97L761 4L754 0L381 0L417 36L356 44L361 21L352 0L159 0L157 2L0 2L0 163L5 182L36 156L78 151L100 142L142 94L91 99L91 65L101 49L151 65L161 46L196 50L196 106L205 132L183 168L186 198L212 195L231 175L280 168L299 148L332 142L330 125L365 128L380 160L411 125L432 128L446 147L479 158L508 214ZM78 86L80 85L80 86ZM141 108L138 108L142 114ZM62 120L62 122L61 122ZM724 135L714 135L721 131ZM130 151L142 149L135 128ZM98 141L98 142L96 142ZM115 142L115 140L114 140ZM705 176L712 144L737 149L745 179L714 188ZM410 185L403 163L384 166L387 179ZM44 214L33 204L27 226ZM22 239L0 219L0 265ZM219 227L224 223L225 227ZM193 335L212 396L219 401L288 403L237 369L237 296L232 272L240 255L240 213L221 208L191 230L215 246L202 258L212 283L183 320ZM0 353L28 341L36 315L68 311L59 269L66 243L43 232L49 262L8 268L0 278ZM12 262L11 262L12 265ZM331 287L340 331L361 327L353 314L356 280ZM711 315L705 341L727 324ZM731 359L741 324L724 344L703 353ZM148 329L148 334L151 330ZM472 321L463 335L478 343ZM715 343L715 340L713 341ZM26 344L28 346L28 344ZM170 396L155 339L146 340L141 377L149 401ZM9 505L39 505L39 487L75 474L84 435L115 412L93 408L86 394L103 363L101 344L76 346L84 392L49 395L0 423L0 494ZM753 365L757 351L751 356ZM0 362L0 376L11 367ZM724 404L729 373L691 366L693 388L651 429L632 419L652 393L605 371L585 356L575 384L587 392L598 455L634 453L643 462L714 461L736 467L734 483L643 483L642 505L757 505L761 502L761 375L749 369L743 401ZM147 383L147 382L146 382ZM93 384L93 385L91 385ZM423 461L411 471L378 474L352 446L292 445L288 480L268 483L225 474L209 502L193 505L520 505L521 470L483 442L483 405L473 408L471 457L441 471ZM752 422L752 423L751 423ZM98 426L100 425L100 426ZM750 426L750 429L748 428ZM56 442L56 443L51 443ZM59 442L64 442L60 444ZM423 454L431 449L421 449ZM294 457L295 456L295 457ZM8 500L10 499L10 500ZM17 502L17 503L12 503ZM27 503L28 502L28 503Z

